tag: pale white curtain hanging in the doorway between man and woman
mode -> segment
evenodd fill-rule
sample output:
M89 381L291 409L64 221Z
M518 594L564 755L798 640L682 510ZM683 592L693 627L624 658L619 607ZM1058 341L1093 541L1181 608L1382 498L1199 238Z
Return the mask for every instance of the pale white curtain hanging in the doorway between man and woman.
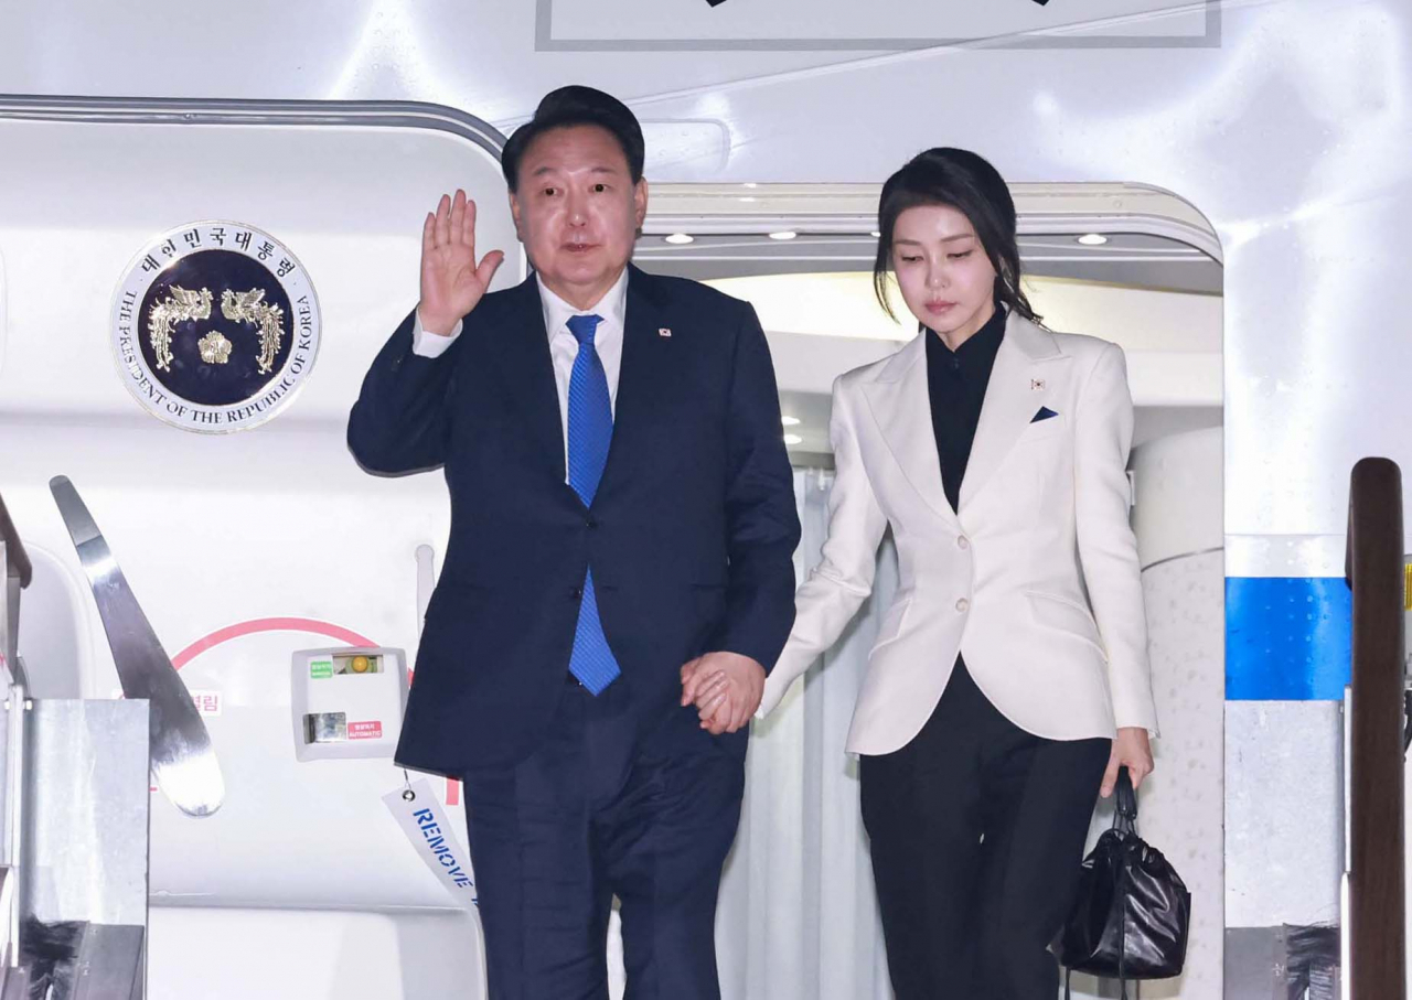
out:
M799 580L819 561L832 474L795 472ZM890 1000L858 766L843 752L882 609L897 588L885 542L877 585L834 647L754 724L746 804L716 918L723 1000Z

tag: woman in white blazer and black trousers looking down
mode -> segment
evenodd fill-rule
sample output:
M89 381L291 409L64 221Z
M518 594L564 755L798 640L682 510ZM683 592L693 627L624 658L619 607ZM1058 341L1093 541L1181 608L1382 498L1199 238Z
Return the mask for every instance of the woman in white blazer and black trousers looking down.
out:
M891 528L847 749L895 994L1053 1000L1094 798L1120 766L1142 780L1156 731L1123 351L1039 326L976 154L921 154L878 216L880 299L891 271L921 331L833 386L829 536L758 715L868 597Z

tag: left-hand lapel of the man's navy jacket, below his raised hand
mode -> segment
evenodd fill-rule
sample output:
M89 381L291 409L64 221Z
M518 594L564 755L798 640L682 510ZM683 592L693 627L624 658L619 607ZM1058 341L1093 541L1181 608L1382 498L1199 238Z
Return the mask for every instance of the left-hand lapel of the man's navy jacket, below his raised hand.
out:
M555 481L563 482L559 389L554 379L549 334L544 329L539 285L532 274L510 293L505 309L508 315L497 324L504 333L486 339L486 353L500 367L503 385L510 386L511 405L522 415L535 451L544 456Z

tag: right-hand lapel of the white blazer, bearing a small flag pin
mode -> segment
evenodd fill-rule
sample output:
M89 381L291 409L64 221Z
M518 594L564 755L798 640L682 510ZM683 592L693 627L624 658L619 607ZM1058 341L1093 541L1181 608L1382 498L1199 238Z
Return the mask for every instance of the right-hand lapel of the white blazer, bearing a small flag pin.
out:
M1053 392L1053 362L1063 360L1053 336L1034 323L1010 315L1005 339L1000 341L995 367L986 386L980 423L971 441L966 478L962 480L962 511L1000 468L1015 440Z

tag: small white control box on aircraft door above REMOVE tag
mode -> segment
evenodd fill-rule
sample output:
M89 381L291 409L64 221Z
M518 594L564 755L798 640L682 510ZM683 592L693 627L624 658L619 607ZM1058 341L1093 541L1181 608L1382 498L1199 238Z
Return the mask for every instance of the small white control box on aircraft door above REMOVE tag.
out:
M304 649L294 654L291 678L295 757L393 756L407 707L402 650Z

